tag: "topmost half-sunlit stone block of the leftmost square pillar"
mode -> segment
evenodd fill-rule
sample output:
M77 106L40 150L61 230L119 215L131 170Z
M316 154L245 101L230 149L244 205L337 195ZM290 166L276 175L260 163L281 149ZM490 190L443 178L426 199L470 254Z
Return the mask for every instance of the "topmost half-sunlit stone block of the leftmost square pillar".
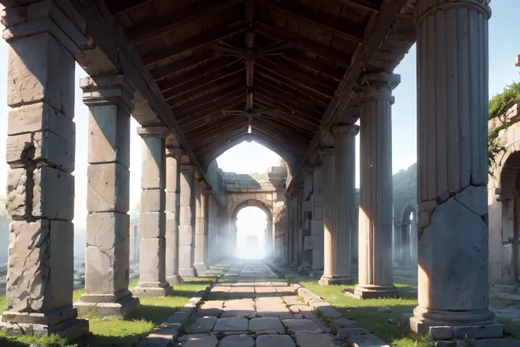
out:
M7 105L45 101L72 118L76 68L72 54L50 33L23 37L10 45Z

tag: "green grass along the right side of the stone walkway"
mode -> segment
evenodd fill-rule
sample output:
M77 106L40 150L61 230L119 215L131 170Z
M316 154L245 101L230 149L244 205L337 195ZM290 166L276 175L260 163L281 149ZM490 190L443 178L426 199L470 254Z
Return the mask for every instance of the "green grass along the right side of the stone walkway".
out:
M429 336L413 334L410 329L390 324L389 318L399 319L403 313L412 313L417 302L417 289L411 283L404 281L394 282L398 289L399 299L357 300L341 293L344 288L353 289L355 286L320 286L317 281L299 276L291 281L305 286L305 288L320 295L324 300L336 308L345 318L353 319L360 327L370 330L380 339L394 347L430 347L435 343ZM391 313L377 312L379 307L390 307Z

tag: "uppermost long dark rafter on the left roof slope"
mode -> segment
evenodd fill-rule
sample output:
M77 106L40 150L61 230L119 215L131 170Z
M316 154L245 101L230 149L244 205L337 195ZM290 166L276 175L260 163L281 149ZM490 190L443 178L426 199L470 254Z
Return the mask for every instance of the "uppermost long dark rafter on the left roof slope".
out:
M203 4L195 3L160 18L154 18L153 20L146 18L141 23L134 25L133 28L126 30L125 35L132 45L137 45L160 35L171 33L182 25L214 15L216 11L229 8L241 1L243 0L209 0Z

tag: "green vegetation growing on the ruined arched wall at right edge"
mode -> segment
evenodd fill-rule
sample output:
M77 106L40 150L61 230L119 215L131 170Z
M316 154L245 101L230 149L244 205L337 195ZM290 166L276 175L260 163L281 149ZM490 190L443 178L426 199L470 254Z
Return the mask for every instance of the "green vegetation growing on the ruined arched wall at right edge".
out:
M488 119L500 120L500 124L488 129L488 167L490 167L490 169L495 161L495 157L505 150L502 143L498 141L500 131L507 129L509 125L511 125L510 122L504 121L502 117L504 117L510 107L518 102L520 102L520 83L516 82L506 86L502 93L490 99Z

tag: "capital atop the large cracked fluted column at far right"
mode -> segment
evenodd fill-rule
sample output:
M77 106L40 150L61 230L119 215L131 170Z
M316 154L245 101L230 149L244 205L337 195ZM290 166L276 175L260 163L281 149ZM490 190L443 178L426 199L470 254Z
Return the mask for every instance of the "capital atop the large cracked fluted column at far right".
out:
M418 25L428 13L449 8L475 8L481 11L487 19L491 17L491 0L418 0L415 4L413 20Z

